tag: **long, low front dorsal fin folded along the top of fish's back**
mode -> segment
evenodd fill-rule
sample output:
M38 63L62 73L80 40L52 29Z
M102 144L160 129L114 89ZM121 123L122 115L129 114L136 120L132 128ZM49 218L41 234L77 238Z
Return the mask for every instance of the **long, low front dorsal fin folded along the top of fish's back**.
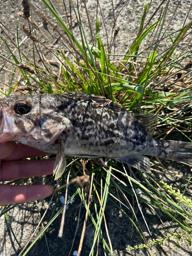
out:
M93 94L71 93L71 92L65 93L65 95L75 98L77 100L93 102L96 104L96 106L98 106L98 108L99 107L108 108L110 110L113 110L121 114L124 114L127 111L125 108L122 107L121 104L113 102L112 100L106 99L105 97L102 97L102 96L97 96Z

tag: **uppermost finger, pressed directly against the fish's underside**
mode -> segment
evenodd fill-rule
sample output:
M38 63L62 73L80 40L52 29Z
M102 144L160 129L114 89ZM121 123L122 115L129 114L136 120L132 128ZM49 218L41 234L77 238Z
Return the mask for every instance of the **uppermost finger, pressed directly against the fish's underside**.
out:
M48 154L49 153L35 150L34 148L32 148L30 146L16 143L14 152L10 156L5 157L3 160L4 161L13 161L13 160L25 159L28 157L45 156Z

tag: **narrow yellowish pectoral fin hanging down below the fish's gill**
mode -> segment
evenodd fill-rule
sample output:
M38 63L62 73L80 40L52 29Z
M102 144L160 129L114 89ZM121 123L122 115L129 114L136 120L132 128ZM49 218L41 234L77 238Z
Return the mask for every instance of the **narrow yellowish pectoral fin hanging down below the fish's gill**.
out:
M55 180L61 177L61 175L65 172L66 169L66 147L65 142L62 139L58 139L58 150L57 156L54 163L53 175L55 175Z

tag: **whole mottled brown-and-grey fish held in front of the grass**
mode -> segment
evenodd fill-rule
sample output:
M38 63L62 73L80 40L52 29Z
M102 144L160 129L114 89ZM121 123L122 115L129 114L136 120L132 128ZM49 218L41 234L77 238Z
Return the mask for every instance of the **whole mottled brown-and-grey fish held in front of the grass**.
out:
M57 154L53 173L66 156L114 159L150 173L147 156L192 163L192 143L155 140L157 114L130 113L102 96L81 93L9 96L0 100L0 143L16 141Z

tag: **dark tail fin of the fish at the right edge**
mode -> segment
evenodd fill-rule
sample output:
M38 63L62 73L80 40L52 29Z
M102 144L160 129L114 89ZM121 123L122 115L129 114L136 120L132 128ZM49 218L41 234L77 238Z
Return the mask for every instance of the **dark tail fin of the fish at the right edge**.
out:
M192 164L192 143L185 141L162 141L164 153L159 156L164 159Z

